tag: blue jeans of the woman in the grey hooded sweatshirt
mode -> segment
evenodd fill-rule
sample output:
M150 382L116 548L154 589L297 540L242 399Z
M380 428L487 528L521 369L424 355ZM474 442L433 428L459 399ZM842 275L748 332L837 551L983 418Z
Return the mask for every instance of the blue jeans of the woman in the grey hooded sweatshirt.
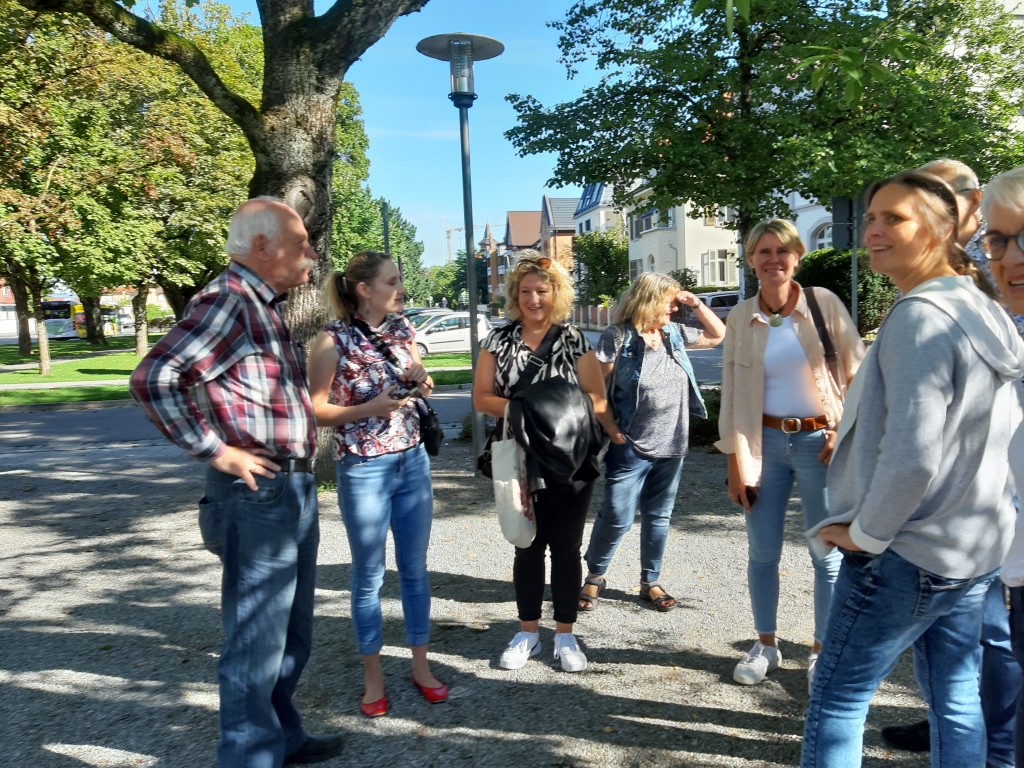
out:
M944 579L891 550L844 553L807 707L803 768L860 765L868 703L911 644L932 765L982 764L981 622L996 573Z

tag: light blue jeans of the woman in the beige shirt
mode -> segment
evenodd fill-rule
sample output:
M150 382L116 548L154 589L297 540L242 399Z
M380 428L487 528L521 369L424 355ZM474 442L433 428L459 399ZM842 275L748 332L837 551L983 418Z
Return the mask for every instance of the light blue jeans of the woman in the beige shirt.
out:
M828 517L825 478L828 465L818 459L825 444L823 429L786 434L765 427L761 435L761 485L746 521L746 586L758 634L774 635L778 614L778 563L782 557L785 510L796 479L804 507L804 530ZM824 558L811 552L814 567L814 639L824 637L833 584L842 556L833 551Z

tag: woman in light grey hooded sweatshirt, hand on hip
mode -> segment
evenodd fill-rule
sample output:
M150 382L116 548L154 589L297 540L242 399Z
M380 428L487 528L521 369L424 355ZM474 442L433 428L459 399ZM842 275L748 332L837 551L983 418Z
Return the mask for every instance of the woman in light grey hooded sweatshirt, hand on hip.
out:
M957 245L945 182L908 171L866 202L871 268L902 297L850 388L828 471L833 517L808 531L843 564L802 765L860 765L871 696L910 645L932 765L981 765L982 611L1014 525L1006 456L1024 343Z

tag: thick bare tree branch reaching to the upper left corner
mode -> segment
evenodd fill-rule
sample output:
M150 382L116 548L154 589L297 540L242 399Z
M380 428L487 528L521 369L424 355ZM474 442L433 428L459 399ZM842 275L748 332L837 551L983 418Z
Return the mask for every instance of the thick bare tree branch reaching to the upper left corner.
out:
M203 51L180 35L130 13L114 0L18 2L30 10L42 13L81 13L121 42L176 63L242 129L250 142L262 136L263 122L256 108L228 88Z

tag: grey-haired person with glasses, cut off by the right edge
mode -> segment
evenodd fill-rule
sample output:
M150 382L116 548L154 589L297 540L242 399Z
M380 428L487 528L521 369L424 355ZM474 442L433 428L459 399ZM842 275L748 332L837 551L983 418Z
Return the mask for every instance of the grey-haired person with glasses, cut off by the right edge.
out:
M1013 314L1024 314L1024 166L1000 173L985 186L981 204L988 226L982 248L1002 301ZM1020 385L1019 385L1020 386ZM1017 493L1024 488L1024 427L1010 441L1010 468ZM1014 655L1024 666L1024 517L1002 565L1002 583L1010 588L1010 639ZM1024 755L1024 696L1017 698L1014 752Z

